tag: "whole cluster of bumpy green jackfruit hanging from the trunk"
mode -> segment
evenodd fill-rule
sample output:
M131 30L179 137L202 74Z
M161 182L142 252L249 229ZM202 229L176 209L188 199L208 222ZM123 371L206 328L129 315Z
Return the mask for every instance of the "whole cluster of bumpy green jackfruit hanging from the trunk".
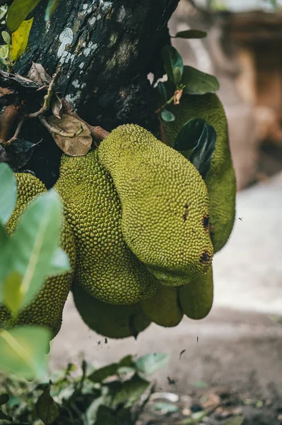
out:
M177 108L177 106L175 106ZM137 336L151 322L174 327L184 314L206 317L213 302L213 253L233 227L235 177L223 108L215 95L185 96L165 130L204 118L218 134L206 179L138 125L122 125L84 157L61 159L55 184L64 204L62 248L73 273L53 277L18 321L57 334L72 282L74 302L91 329ZM44 185L18 174L18 203L7 229ZM8 314L0 307L0 326Z

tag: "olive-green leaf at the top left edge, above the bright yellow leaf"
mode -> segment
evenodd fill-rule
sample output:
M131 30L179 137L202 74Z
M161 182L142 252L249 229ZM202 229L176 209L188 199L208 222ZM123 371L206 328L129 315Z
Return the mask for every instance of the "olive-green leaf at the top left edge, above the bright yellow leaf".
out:
M7 28L14 33L40 0L14 0L8 8Z

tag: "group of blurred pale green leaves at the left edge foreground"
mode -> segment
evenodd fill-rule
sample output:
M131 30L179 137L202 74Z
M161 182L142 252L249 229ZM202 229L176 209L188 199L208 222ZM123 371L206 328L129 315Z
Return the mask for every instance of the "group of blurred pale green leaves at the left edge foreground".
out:
M69 270L69 259L59 248L61 202L57 192L33 200L9 237L4 225L16 205L16 179L7 164L0 164L0 179L0 302L11 311L13 321L47 276ZM42 327L10 327L6 323L0 330L0 370L27 379L42 375L50 332Z

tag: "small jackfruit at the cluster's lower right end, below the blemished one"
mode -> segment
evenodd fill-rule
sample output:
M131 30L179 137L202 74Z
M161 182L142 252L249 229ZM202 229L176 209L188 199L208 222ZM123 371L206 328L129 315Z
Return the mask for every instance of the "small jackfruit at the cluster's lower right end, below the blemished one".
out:
M204 319L213 305L213 268L206 275L194 282L179 288L182 312L190 319Z

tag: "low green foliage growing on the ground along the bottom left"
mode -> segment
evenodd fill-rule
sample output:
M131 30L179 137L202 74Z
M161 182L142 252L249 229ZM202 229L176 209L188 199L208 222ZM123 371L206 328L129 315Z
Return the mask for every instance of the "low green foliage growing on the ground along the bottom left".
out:
M70 363L44 383L0 376L0 419L6 414L24 424L134 425L153 392L144 375L167 361L158 353L136 361L127 356L97 370L83 361L80 374Z

